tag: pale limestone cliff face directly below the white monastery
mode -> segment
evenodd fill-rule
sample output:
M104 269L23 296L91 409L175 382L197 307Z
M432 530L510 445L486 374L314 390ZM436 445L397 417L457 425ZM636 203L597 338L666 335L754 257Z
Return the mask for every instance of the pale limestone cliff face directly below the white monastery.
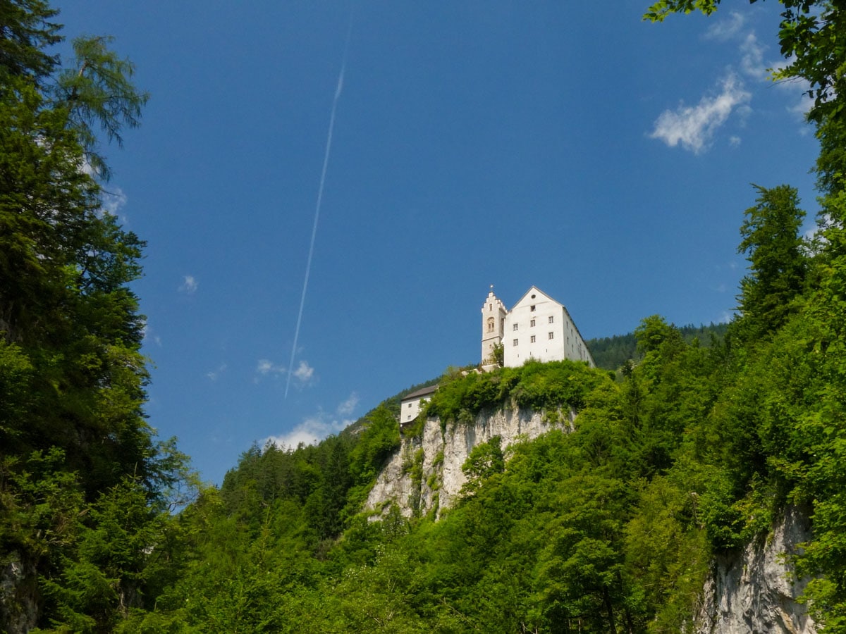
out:
M494 436L503 451L516 440L530 440L550 429L572 429L574 413L497 409L478 414L472 424L449 424L442 430L438 418L429 418L423 434L404 438L376 479L365 509L381 511L391 503L404 516L426 515L449 508L467 478L461 466L475 445ZM558 422L552 423L551 420Z

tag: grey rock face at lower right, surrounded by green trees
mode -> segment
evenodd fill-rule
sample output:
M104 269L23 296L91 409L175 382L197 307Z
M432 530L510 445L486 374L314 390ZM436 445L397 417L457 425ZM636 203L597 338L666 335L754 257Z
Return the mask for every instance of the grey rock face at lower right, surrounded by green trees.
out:
M810 539L810 520L788 508L766 540L737 555L721 555L704 588L696 634L816 634L816 624L796 598L808 580L791 582L784 562L797 544Z

